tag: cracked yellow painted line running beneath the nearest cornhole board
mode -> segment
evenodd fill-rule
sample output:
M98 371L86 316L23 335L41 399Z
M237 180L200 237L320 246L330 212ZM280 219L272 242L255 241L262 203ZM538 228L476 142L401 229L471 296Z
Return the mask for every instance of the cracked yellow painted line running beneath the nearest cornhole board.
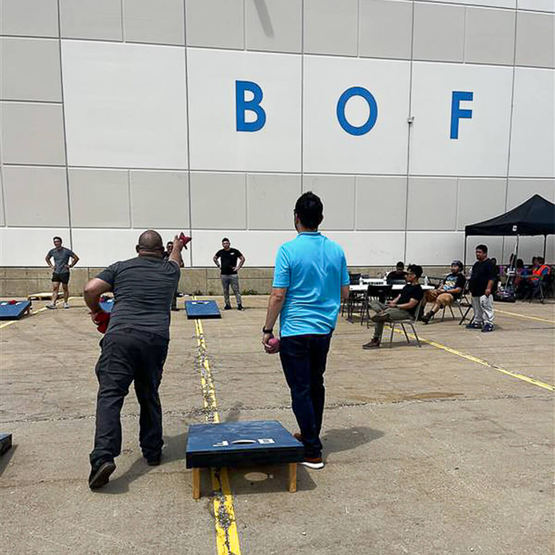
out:
M193 300L196 300L196 297L193 297ZM206 352L203 324L199 319L195 319L195 332L196 344L199 350L200 387L203 392L206 421L219 423L216 391L212 380L208 353ZM214 490L214 524L218 555L241 555L228 471L225 468L211 468L210 474Z

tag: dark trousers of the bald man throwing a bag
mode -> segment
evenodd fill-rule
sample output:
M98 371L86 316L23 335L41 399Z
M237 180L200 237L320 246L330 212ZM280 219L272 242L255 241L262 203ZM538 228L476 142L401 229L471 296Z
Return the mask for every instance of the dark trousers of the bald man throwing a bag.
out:
M90 463L113 460L122 448L120 412L134 381L140 405L139 443L145 457L162 450L162 405L158 387L168 354L168 340L148 332L125 328L100 341L102 353L95 372L98 379L97 420Z

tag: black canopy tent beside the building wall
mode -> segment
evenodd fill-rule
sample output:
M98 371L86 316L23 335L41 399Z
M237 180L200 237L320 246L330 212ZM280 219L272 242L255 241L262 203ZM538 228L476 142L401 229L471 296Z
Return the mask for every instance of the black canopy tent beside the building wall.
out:
M543 235L545 258L547 236L553 234L555 234L555 204L544 199L543 196L534 195L501 216L465 227L465 267L468 235L515 235L517 238L515 254L518 252L520 235Z

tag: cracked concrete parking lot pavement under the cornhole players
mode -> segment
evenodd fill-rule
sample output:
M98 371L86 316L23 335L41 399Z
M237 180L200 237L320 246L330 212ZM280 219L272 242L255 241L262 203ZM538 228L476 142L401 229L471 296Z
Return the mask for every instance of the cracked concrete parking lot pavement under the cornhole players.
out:
M221 298L214 297L221 305ZM180 305L181 305L180 301ZM204 320L221 421L297 430L279 357L260 345L266 296ZM195 324L172 314L160 395L163 463L138 446L134 393L109 485L87 485L100 334L81 298L0 329L0 545L5 553L214 554L209 472L191 497L188 426L205 422ZM363 351L366 325L341 319L326 370L322 471L229 469L246 555L553 553L553 301L496 305L497 330L418 324L418 349ZM531 378L532 380L527 380Z

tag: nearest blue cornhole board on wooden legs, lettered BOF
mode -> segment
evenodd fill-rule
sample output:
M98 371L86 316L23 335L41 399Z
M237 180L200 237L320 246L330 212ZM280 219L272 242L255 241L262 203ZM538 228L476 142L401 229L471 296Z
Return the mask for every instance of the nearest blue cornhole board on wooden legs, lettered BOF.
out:
M256 465L289 465L289 491L297 490L297 462L304 446L280 422L191 424L185 466L193 469L193 499L200 498L200 469Z

